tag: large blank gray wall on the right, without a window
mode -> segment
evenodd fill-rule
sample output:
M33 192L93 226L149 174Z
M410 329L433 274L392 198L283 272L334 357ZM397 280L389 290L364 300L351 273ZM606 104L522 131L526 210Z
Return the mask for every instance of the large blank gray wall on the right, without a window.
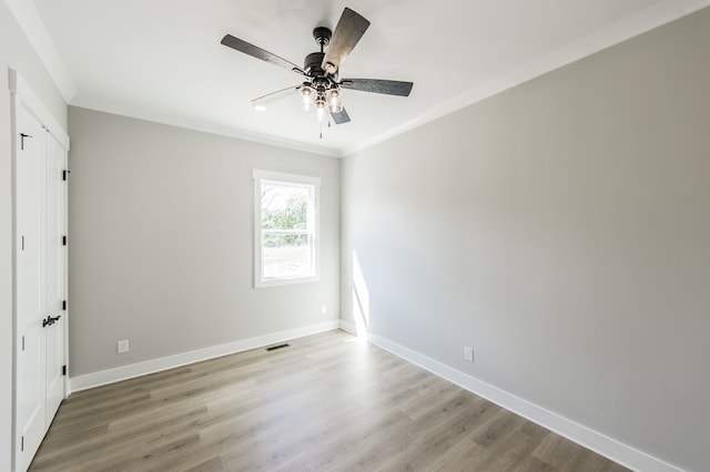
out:
M710 9L345 158L344 319L355 254L372 332L707 470L708 58Z

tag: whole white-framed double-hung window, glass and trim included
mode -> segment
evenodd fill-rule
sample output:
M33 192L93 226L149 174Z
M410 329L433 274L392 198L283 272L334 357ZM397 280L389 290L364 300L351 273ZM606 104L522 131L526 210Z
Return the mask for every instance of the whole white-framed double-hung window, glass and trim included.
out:
M321 178L254 171L254 285L317 280Z

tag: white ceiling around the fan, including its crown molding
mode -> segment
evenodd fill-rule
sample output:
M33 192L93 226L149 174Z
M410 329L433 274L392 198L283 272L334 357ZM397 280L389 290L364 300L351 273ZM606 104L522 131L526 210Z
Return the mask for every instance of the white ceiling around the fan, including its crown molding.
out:
M710 4L710 0L6 0L67 101L128 116L347 155ZM296 64L344 7L372 25L342 78L414 82L409 98L344 91L353 120L324 130L296 96L251 100L300 76L222 44L225 33ZM39 13L39 16L38 16ZM41 21L39 21L41 20ZM49 33L49 37L48 34Z

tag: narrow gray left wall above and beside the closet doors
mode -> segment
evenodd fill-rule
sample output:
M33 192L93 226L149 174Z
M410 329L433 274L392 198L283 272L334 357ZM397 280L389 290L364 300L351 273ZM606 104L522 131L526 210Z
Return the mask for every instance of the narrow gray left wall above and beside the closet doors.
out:
M16 69L57 122L67 129L67 104L34 50L0 2L0 470L12 451L12 134L8 68Z

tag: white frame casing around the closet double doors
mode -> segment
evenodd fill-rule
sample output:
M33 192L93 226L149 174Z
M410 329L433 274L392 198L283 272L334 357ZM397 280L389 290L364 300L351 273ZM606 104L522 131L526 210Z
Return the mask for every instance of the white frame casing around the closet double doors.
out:
M69 135L64 132L59 122L52 116L47 106L42 103L41 99L34 93L34 91L30 88L30 85L22 79L20 73L9 68L9 89L10 89L10 113L11 113L11 133L12 133L12 151L11 151L11 175L12 175L12 449L11 449L11 468L12 470L17 469L17 424L16 424L16 411L17 411L17 335L18 335L18 322L17 322L17 112L20 106L23 106L30 113L34 115L34 117L44 126L44 129L57 140L57 142L61 145L65 153L69 152L70 148L70 140ZM67 158L64 158L65 164L68 165ZM63 214L63 227L69 233L69 220L68 220L68 188L64 188L64 214ZM69 294L69 255L64 255L64 294ZM67 297L68 298L68 297ZM69 369L69 307L67 307L65 311L62 311L62 316L64 317L64 363ZM63 379L63 398L67 398L69 393L69 376L64 376Z

